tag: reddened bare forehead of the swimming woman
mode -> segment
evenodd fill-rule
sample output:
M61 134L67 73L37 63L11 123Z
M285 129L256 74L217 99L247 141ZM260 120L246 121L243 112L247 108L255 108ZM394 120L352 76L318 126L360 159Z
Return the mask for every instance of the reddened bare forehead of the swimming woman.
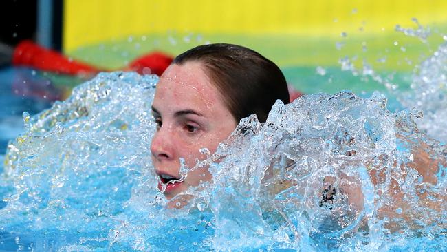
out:
M154 107L214 109L223 105L221 96L197 61L170 65L160 77Z

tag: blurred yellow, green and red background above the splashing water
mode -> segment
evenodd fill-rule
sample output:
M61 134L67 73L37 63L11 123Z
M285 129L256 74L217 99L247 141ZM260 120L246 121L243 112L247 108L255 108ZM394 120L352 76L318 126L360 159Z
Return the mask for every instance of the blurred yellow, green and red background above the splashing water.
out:
M379 90L393 104L417 63L447 40L442 0L5 0L0 16L0 151L21 115L98 71L157 70L204 43L252 48L303 94ZM146 67L146 68L145 68ZM158 68L157 68L158 67ZM391 106L398 109L398 105Z

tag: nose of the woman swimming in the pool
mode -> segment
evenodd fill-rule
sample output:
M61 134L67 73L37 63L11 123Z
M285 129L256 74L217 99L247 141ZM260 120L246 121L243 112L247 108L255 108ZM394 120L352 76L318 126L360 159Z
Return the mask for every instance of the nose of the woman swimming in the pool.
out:
M155 132L151 143L151 153L154 158L159 161L173 159L172 137L171 132L163 126Z

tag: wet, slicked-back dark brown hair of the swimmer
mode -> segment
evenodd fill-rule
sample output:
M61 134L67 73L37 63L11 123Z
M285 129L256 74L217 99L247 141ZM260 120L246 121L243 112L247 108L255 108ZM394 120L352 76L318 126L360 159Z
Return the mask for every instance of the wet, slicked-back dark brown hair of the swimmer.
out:
M198 61L221 93L237 122L256 114L265 123L277 99L289 103L285 77L279 67L261 54L240 45L199 45L175 57L173 64Z

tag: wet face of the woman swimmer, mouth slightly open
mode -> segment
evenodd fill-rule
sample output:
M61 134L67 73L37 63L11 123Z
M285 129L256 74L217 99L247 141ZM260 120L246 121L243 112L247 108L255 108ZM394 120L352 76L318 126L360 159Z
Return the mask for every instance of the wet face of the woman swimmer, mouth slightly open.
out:
M151 144L155 172L166 184L178 180L180 162L195 167L206 158L199 149L211 153L235 129L237 123L223 103L221 94L206 76L201 63L190 61L171 65L160 77L152 105L157 132ZM177 193L201 181L211 179L207 167L188 172L182 182L168 183L164 195L171 199ZM162 189L162 185L158 185Z

